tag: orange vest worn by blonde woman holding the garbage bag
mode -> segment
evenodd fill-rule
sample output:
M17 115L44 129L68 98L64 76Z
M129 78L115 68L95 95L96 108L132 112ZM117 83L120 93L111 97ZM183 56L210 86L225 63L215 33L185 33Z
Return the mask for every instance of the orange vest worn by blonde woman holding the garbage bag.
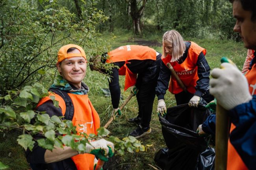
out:
M165 58L161 57L165 66L169 62L177 75L182 80L183 84L186 86L187 91L189 93L195 93L195 86L197 84L198 75L197 75L197 58L198 55L203 52L206 55L206 49L198 46L195 42L191 41L191 45L188 49L187 58L182 64L178 64L178 62L170 62L172 56L167 55ZM169 82L169 91L173 94L178 94L183 91L183 89L178 85L175 77L171 77Z

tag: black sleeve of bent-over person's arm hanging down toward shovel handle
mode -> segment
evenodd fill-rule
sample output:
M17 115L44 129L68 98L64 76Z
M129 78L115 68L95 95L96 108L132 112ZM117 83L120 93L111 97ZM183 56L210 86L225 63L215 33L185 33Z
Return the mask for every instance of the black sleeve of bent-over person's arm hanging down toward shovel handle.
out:
M109 74L110 75L110 80L108 80L108 85L109 85L109 91L111 94L111 102L113 108L118 108L119 107L119 101L120 101L120 86L119 86L119 72L118 68L113 68L112 72Z

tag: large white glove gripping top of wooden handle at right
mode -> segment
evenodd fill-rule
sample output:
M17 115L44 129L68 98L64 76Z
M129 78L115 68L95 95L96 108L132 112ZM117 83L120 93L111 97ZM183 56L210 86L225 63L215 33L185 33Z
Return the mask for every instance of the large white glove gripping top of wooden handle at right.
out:
M230 110L252 99L247 79L236 66L222 63L221 68L211 71L211 77L210 93L224 109Z

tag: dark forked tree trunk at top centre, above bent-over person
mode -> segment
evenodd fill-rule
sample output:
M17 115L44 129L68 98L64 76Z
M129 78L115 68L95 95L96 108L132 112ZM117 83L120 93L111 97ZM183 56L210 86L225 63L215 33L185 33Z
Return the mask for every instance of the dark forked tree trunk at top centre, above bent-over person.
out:
M141 31L141 16L143 14L143 11L145 9L147 0L142 1L141 7L138 9L137 6L137 0L130 0L131 4L131 16L132 16L132 23L134 27L134 33L136 35L142 35Z

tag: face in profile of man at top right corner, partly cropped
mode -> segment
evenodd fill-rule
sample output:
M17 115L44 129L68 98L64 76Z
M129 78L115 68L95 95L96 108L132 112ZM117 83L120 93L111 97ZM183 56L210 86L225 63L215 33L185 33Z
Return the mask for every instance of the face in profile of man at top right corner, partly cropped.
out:
M239 32L245 47L256 49L256 21L251 20L252 12L245 11L240 0L233 3L233 16L236 18L234 31Z

